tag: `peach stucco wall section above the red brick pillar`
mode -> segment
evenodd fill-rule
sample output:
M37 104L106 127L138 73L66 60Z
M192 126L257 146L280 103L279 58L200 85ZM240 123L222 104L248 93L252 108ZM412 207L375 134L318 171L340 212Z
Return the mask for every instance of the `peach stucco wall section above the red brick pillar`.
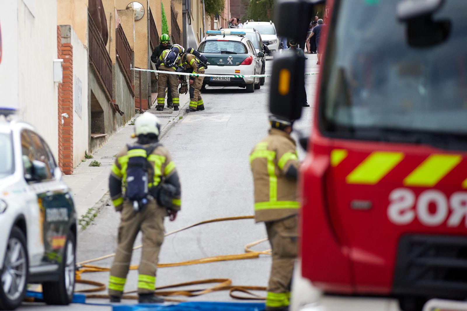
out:
M57 25L71 25L85 47L88 31L87 8L88 0L57 0Z

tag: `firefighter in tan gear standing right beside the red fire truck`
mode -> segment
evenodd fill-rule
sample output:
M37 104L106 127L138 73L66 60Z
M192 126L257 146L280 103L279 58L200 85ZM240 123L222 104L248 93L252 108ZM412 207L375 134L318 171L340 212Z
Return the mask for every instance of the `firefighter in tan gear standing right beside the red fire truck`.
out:
M272 247L266 310L289 310L290 285L297 256L297 171L292 122L270 116L269 135L250 155L255 186L255 221L264 221Z

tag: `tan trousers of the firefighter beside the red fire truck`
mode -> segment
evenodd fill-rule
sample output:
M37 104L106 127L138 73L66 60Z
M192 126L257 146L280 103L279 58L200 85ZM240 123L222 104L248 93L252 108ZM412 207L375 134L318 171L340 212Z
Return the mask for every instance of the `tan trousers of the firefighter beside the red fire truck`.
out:
M265 224L272 247L266 310L283 310L289 306L290 285L297 257L297 215Z

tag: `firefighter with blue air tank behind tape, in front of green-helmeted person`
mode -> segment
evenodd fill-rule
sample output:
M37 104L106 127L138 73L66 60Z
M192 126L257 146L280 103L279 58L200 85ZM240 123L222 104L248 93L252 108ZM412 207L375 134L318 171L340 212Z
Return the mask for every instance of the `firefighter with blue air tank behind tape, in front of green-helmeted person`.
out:
M181 65L180 53L182 53L183 47L178 44L174 44L172 48L163 50L161 56L156 62L156 67L159 70L163 71L172 71L175 72L177 68ZM177 54L174 56L174 54ZM170 59L169 59L170 58ZM170 92L172 94L172 102L174 110L178 110L180 105L180 98L178 95L178 76L173 74L159 73L159 78L157 80L157 109L158 111L164 110L164 100L165 100L165 85L167 82L170 85Z

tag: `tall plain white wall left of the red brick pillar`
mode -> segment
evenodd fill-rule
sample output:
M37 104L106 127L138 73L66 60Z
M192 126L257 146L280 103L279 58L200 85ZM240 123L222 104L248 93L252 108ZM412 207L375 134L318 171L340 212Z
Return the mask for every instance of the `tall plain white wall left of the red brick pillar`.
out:
M28 6L17 0L18 14L8 10L11 17L1 21L3 33L9 29L9 22L18 23L18 71L15 79L10 76L6 89L10 90L10 85L18 83L14 100L19 103L21 119L35 126L57 158L58 84L54 83L53 76L53 61L57 58L57 4L53 1L27 2ZM2 45L6 46L7 42ZM2 63L9 62L3 57ZM10 71L8 75L14 75L14 72Z

